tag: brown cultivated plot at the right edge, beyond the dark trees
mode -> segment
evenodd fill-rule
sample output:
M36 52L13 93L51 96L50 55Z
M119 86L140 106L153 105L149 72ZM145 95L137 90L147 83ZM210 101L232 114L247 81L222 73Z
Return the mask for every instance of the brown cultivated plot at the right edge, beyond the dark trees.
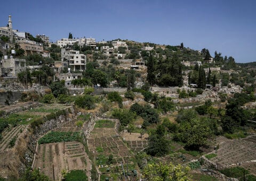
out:
M256 136L226 141L217 150L217 157L210 159L218 163L218 169L241 165L256 175Z

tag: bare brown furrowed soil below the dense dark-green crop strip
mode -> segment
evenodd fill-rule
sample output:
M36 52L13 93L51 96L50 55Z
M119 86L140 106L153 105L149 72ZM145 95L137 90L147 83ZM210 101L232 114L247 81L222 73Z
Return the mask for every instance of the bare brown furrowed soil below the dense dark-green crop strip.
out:
M51 179L60 180L62 170L86 170L86 157L83 144L77 141L40 144L34 168L39 167Z

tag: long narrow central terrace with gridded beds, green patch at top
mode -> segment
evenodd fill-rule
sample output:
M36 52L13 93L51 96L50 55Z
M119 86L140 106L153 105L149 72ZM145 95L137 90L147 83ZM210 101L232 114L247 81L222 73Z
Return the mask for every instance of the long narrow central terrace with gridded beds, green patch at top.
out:
M128 170L129 177L137 178L138 169L133 154L116 133L115 122L112 120L97 120L90 133L88 147L101 173L100 180L110 177L113 177L113 180L122 178L121 162L125 172Z

